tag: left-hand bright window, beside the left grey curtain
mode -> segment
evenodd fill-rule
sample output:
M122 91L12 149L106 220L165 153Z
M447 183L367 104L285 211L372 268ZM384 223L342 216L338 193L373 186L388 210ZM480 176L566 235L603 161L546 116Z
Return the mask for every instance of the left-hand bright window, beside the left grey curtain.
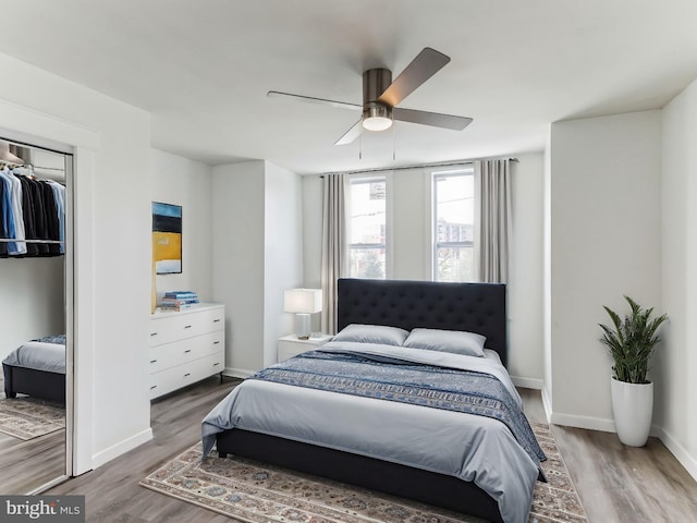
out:
M387 275L387 180L351 180L348 203L348 273L352 278Z

